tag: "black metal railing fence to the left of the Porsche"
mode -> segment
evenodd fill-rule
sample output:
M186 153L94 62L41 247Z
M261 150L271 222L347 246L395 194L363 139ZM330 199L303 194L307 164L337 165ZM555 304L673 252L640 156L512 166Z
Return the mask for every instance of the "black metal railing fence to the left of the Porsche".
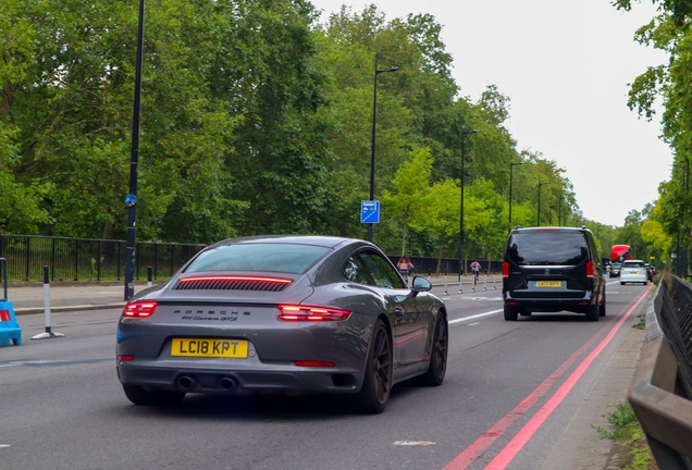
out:
M173 275L206 245L137 242L135 279ZM9 281L40 281L44 265L51 281L121 281L125 275L125 240L0 235L0 257L8 260Z

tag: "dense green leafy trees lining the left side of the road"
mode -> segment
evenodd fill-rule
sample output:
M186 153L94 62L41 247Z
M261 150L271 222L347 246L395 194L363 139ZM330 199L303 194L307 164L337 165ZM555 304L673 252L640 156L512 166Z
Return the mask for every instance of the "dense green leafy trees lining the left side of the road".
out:
M390 251L457 255L464 184L467 255L497 257L511 162L515 223L536 220L539 182L545 222L577 208L564 170L517 149L509 97L494 85L459 96L430 14L343 7L320 23L306 0L146 8L139 238L362 237L372 151L375 242ZM137 20L136 2L0 3L3 232L124 237Z

